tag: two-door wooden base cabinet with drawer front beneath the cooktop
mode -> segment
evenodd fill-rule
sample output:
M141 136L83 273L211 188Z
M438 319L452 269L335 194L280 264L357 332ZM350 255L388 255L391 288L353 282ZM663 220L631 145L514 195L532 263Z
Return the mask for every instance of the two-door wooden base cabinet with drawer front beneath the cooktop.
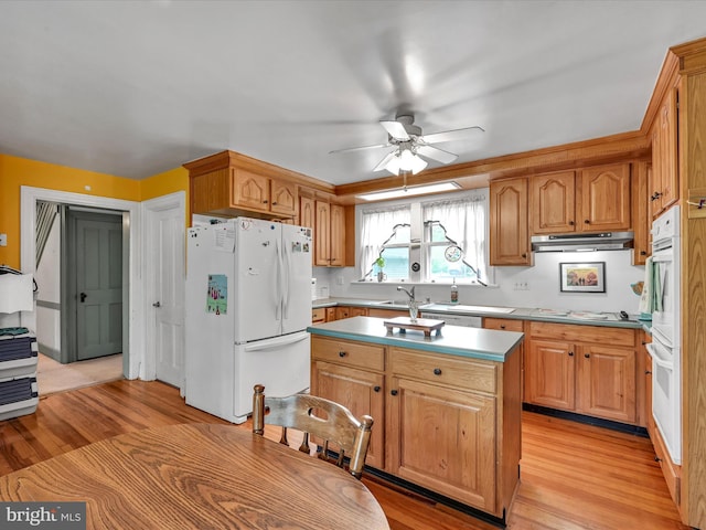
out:
M530 322L525 401L635 424L635 330Z

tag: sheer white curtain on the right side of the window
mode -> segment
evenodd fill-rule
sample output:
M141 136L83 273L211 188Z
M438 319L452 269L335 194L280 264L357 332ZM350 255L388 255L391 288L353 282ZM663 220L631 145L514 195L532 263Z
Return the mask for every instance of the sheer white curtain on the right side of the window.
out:
M488 210L484 193L422 206L424 221L439 221L443 225L447 235L463 250L463 259L478 271L483 282L488 282Z

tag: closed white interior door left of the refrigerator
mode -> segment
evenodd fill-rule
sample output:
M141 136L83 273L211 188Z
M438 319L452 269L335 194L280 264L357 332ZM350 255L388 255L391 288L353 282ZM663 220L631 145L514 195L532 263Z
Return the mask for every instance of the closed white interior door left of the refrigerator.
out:
M179 192L152 199L142 205L148 351L154 352L154 378L183 389L184 194Z

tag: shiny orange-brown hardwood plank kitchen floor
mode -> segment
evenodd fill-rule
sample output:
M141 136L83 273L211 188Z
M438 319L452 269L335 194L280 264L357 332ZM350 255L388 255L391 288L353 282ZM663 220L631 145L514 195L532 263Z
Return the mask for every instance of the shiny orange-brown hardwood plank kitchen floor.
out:
M0 475L108 436L185 422L226 423L185 405L178 390L159 382L121 380L52 394L41 399L35 414L0 422ZM678 522L646 438L523 413L522 449L510 529L687 529ZM393 530L494 528L363 480Z

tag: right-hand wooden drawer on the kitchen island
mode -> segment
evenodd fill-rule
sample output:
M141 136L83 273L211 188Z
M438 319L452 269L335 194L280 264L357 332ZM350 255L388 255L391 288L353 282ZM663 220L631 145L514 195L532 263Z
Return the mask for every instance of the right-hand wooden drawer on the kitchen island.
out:
M394 375L448 384L464 390L498 392L496 365L490 361L418 353L396 348L392 349L389 358Z

